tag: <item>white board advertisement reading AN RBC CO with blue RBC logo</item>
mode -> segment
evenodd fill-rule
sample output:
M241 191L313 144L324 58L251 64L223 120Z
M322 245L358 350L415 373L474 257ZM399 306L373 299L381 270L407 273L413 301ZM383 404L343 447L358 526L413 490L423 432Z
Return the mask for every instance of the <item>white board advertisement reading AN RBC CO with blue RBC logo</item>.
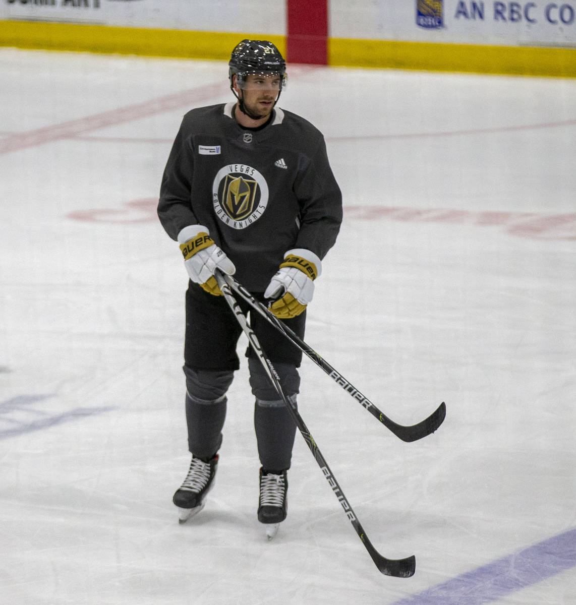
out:
M576 47L576 0L331 0L330 36Z

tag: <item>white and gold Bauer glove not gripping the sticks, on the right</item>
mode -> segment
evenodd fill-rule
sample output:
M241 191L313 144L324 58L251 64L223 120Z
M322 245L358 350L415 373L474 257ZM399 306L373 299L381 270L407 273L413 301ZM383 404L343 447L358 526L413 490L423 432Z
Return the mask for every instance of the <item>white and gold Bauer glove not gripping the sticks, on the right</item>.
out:
M269 308L280 319L300 315L314 294L313 280L322 273L322 261L303 248L288 250L280 269L264 292Z

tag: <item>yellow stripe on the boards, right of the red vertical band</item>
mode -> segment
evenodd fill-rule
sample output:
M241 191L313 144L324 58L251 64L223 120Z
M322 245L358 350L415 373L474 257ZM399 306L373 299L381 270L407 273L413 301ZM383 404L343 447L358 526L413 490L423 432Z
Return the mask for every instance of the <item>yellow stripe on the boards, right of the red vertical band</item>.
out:
M329 65L576 77L576 48L331 38Z

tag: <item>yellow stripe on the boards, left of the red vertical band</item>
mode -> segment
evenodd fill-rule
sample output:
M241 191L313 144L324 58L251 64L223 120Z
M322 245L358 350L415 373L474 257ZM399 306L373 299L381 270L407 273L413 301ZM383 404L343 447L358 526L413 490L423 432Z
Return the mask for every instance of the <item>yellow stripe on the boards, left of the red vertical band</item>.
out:
M285 36L108 27L45 21L0 21L0 46L155 57L229 60L243 38L267 39L286 53Z

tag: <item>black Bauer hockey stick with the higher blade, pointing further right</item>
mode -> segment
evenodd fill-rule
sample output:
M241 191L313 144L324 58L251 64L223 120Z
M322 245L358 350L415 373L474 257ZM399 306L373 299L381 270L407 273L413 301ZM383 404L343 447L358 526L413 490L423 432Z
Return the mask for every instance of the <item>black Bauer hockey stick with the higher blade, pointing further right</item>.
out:
M330 365L326 359L323 359L315 350L306 344L293 330L291 330L286 324L280 321L262 302L257 299L238 283L231 275L224 275L224 280L231 286L235 292L250 304L252 309L255 309L260 315L267 319L279 332L283 333L286 338L293 342L303 353L305 353L316 365L322 368L326 374L332 378L336 384L340 385L350 396L352 396L359 404L362 405L366 410L372 414L375 418L378 418L380 422L388 428L396 437L402 439L405 442L417 441L426 437L430 433L434 433L437 428L442 424L446 416L446 404L442 402L439 407L433 411L426 419L418 422L411 426L405 426L398 424L391 420L385 414L383 414L371 401L362 394L354 385L352 385L347 379L342 376L341 373L336 371L332 365Z

